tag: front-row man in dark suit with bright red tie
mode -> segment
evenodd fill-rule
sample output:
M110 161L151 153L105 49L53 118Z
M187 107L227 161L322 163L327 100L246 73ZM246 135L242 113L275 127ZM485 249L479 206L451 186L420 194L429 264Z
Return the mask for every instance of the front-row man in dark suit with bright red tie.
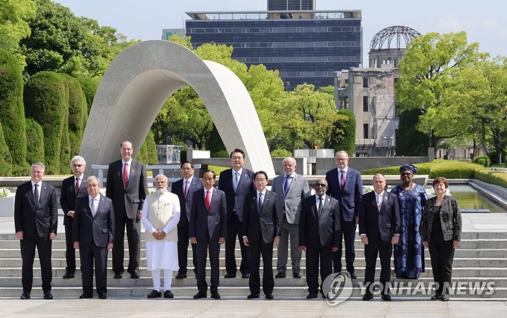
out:
M203 190L197 190L192 195L190 212L190 243L197 244L197 288L199 292L195 299L206 298L208 284L206 284L206 255L209 250L209 264L211 265L210 291L211 298L220 299L219 294L219 253L220 245L227 237L227 206L225 193L213 188L216 175L211 170L205 170L202 175Z

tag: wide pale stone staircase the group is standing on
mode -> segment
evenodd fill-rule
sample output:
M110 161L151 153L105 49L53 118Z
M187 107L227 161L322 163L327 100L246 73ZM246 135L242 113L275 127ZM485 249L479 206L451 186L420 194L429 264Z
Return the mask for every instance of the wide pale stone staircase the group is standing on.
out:
M507 238L503 233L496 232L464 232L462 233L460 247L456 249L453 263L453 285L451 299L475 299L475 300L506 300L507 299ZM79 269L79 251L76 251L78 269L76 278L64 280L65 274L65 242L64 234L59 233L53 241L52 265L53 281L51 292L55 297L78 297L82 293L81 270ZM125 242L127 246L127 242ZM238 264L238 277L225 279L225 251L222 246L220 252L220 286L219 293L224 298L246 299L250 293L248 280L242 279L239 273L241 255L239 244L236 244L236 262ZM357 280L352 280L353 288L351 298L359 299L364 293L361 287L364 283L365 258L364 248L359 238L355 241L356 259L355 273ZM421 273L419 280L404 280L393 278L393 298L421 298L428 299L432 295L429 286L433 281L429 252L425 251L426 270ZM192 270L192 250L189 247L189 270L188 278L172 280L172 292L176 298L189 298L197 293L196 280ZM289 252L290 255L290 252ZM111 268L111 252L108 254L108 268ZM128 251L125 251L125 259L128 260ZM262 264L262 262L261 262ZM125 267L126 267L125 263ZM39 259L34 261L34 279L32 296L43 296L41 289L41 270ZM345 267L345 266L344 266ZM287 278L275 279L273 295L278 299L302 299L307 295L306 286L306 260L303 252L301 263L302 279L292 278L290 258L287 266ZM150 272L146 270L146 249L141 240L141 268L140 279L130 279L127 272L123 279L113 279L113 271L110 269L107 279L108 296L146 297L152 291L152 279ZM377 261L376 280L380 274L380 263ZM176 275L176 272L174 272ZM206 276L209 285L210 267L206 264ZM276 275L276 249L273 251L273 275ZM394 277L394 270L392 273ZM262 277L262 269L261 269ZM482 291L482 292L481 292ZM19 297L21 288L21 254L19 241L14 234L0 235L0 297ZM95 291L94 291L95 293ZM208 291L209 294L209 291ZM261 295L262 296L262 295Z

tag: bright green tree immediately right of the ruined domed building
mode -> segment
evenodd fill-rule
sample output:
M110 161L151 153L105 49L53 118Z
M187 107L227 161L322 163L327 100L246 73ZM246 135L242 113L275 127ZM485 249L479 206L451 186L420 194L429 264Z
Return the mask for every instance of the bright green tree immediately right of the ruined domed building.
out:
M396 103L401 113L420 110L417 129L428 135L435 151L440 141L464 133L467 112L451 97L457 90L456 72L484 56L478 49L479 43L467 43L465 32L428 33L413 39L400 61Z

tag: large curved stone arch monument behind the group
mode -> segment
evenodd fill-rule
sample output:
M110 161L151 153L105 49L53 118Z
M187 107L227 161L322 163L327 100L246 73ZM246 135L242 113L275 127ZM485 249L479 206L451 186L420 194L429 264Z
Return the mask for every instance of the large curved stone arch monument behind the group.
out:
M185 86L202 99L227 151L244 150L246 168L274 177L261 122L241 80L227 67L165 40L136 43L107 68L80 155L89 164L107 165L120 158L120 143L130 140L136 156L164 102Z

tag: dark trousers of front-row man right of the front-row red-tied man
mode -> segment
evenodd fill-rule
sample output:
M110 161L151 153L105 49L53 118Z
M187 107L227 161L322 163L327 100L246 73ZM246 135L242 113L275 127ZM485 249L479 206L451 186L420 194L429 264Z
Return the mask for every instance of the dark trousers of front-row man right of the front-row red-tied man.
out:
M259 233L260 242L250 243L250 278L248 286L250 294L259 294L261 291L261 255L263 262L262 290L264 294L272 294L275 287L273 280L273 243L264 243L262 233Z

